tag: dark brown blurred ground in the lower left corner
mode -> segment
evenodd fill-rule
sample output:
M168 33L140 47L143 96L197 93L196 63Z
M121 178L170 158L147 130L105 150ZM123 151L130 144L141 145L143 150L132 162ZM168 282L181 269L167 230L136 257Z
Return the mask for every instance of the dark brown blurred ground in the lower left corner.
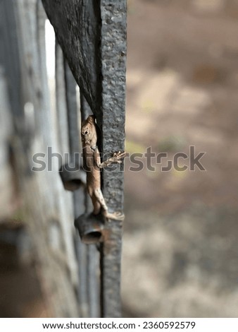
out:
M0 224L0 318L48 317L37 267L19 220Z

